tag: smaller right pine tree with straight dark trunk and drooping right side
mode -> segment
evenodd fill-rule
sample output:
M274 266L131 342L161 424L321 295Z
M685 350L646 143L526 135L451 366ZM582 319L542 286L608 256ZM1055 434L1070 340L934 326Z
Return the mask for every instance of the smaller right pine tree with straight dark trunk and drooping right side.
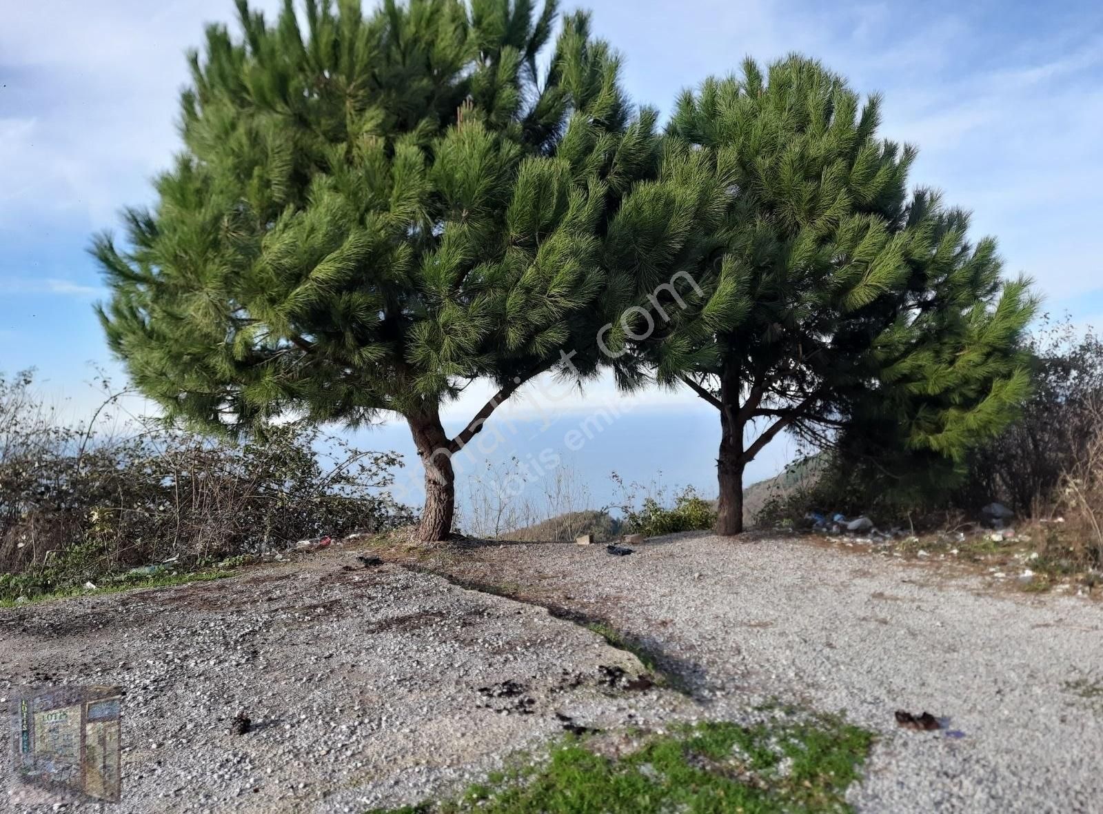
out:
M641 264L640 308L606 342L625 387L685 385L719 411L721 534L782 430L961 463L1029 387L1028 282L965 213L908 194L915 151L877 138L879 101L806 58L748 61L682 96L658 179L624 202L681 207L668 259L687 276L664 288Z

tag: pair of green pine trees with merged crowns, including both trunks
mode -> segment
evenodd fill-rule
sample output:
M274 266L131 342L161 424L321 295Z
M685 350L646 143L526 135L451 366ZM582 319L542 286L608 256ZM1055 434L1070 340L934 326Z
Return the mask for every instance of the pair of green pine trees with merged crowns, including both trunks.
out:
M783 430L955 465L1028 389L1027 280L909 191L879 97L815 61L747 61L660 136L587 14L550 46L554 0L237 8L240 39L212 25L190 54L154 205L94 246L108 342L171 419L401 415L441 539L451 457L494 409L608 365L718 409L736 533ZM440 408L479 379L497 392L450 438Z

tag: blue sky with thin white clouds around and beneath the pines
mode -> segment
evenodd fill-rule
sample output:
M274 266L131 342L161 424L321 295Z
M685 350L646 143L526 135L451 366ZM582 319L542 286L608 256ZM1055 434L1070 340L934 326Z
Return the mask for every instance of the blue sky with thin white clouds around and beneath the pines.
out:
M179 148L184 50L201 42L205 22L232 20L233 3L0 3L0 372L35 367L43 397L83 415L95 398L90 363L125 381L92 310L105 291L86 251L90 235L117 226L125 204L150 201L150 178ZM663 113L683 88L738 71L745 56L764 63L794 51L824 61L864 94L882 93L881 133L920 150L912 183L941 189L972 211L974 235L998 238L1007 272L1030 275L1046 311L1103 324L1103 4L587 7L596 33L623 55L633 99ZM486 395L472 388L446 424L462 426ZM692 394L624 397L608 381L579 394L540 381L522 396L491 419L512 421L515 431L484 443L473 468L538 460L550 449L595 505L613 500L612 470L642 482L662 471L667 485L715 493L718 420ZM567 449L563 436L588 418L592 437ZM403 425L356 440L413 459ZM779 438L748 480L770 476L795 452Z

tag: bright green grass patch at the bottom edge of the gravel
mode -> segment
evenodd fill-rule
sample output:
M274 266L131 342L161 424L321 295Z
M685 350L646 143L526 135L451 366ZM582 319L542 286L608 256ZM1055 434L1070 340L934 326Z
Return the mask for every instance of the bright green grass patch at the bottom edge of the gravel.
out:
M845 812L872 736L834 716L801 724L682 727L613 759L568 737L545 760L457 800L370 814L765 814Z

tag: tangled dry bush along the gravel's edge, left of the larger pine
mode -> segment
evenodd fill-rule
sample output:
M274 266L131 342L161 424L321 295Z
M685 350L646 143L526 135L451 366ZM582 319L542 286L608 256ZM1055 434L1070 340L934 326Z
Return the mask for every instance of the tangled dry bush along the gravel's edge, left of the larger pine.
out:
M72 425L41 405L29 373L0 377L0 593L411 520L386 492L395 453L298 424L247 442L156 421L104 431L118 397Z

